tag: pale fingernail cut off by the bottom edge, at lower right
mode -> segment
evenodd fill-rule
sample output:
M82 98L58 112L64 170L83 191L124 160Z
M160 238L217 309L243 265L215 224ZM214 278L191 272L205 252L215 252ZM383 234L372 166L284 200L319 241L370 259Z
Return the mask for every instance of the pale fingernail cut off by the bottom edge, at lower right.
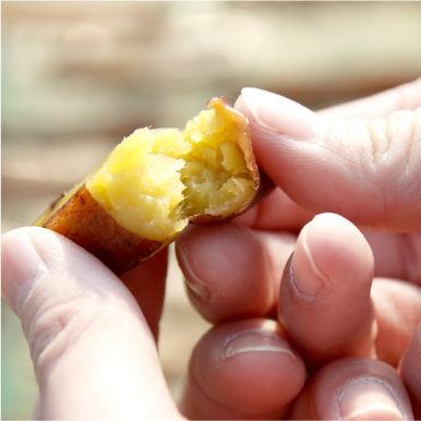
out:
M404 420L390 390L382 383L369 380L352 383L344 390L340 411L344 421L366 420L369 413L370 419Z

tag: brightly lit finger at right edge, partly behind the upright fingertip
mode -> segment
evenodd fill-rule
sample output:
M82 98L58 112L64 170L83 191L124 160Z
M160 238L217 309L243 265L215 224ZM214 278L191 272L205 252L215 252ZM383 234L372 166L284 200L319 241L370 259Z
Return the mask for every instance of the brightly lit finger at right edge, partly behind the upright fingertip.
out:
M421 320L421 289L396 279L374 279L371 297L378 325L377 358L398 366Z

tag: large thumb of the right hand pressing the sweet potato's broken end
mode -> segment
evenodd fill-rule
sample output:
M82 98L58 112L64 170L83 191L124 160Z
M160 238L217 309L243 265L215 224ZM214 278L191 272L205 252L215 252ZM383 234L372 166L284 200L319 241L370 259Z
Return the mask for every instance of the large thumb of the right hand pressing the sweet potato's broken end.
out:
M421 108L327 118L256 88L236 108L250 119L260 166L299 205L361 228L421 228Z

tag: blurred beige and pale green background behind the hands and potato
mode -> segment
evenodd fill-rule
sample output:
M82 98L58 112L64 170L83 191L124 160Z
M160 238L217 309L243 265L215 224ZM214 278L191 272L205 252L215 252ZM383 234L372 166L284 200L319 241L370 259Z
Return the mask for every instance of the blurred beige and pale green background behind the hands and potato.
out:
M421 0L0 0L0 233L29 225L134 129L183 128L256 86L317 109L421 75ZM160 352L172 392L208 328L171 255ZM0 301L0 421L36 385Z

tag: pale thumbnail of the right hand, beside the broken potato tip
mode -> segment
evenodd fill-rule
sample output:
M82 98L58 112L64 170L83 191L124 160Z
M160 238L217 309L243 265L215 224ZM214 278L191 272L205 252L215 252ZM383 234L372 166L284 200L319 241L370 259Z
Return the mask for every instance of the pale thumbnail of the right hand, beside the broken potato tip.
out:
M291 99L254 87L243 88L241 95L262 128L300 141L320 132L320 117Z

